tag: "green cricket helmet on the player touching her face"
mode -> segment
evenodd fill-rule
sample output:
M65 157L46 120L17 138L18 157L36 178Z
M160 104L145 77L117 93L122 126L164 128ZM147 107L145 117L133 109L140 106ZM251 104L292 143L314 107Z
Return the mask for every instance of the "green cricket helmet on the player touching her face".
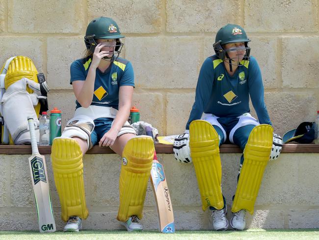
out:
M120 38L124 38L124 36L113 19L98 17L93 19L87 26L84 42L86 48L91 53L94 53L95 47L98 45L97 39L115 39L116 45L113 46L113 56L110 58L104 57L104 59L115 61L124 45Z

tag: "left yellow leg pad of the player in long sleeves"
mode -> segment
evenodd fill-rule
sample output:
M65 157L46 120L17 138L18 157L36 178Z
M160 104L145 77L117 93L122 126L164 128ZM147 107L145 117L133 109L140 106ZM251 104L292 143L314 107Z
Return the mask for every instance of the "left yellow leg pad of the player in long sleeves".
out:
M197 177L202 209L224 207L221 193L219 139L212 124L204 120L189 125L189 148Z

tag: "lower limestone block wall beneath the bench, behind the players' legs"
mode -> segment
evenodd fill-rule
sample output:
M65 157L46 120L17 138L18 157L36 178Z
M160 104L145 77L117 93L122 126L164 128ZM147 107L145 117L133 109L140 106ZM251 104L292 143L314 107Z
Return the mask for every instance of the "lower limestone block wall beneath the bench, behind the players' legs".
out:
M253 215L247 213L247 228L318 228L318 153L282 153L268 163ZM0 230L38 230L28 155L0 155ZM194 167L182 164L173 154L159 154L171 194L178 230L212 229L211 211L203 211ZM46 155L57 229L62 230L59 199L54 185L50 155ZM221 154L222 189L230 219L236 191L239 153ZM121 158L116 154L87 154L83 159L87 207L84 229L122 229L116 220ZM157 210L150 183L147 188L145 230L158 229Z

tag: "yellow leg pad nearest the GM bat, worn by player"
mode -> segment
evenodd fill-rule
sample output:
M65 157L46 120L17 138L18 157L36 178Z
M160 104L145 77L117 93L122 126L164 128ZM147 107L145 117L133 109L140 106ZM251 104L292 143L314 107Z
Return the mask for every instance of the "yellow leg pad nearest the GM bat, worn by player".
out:
M67 221L70 216L86 219L86 208L82 151L74 139L57 138L52 145L52 167L54 181L60 197L61 218Z

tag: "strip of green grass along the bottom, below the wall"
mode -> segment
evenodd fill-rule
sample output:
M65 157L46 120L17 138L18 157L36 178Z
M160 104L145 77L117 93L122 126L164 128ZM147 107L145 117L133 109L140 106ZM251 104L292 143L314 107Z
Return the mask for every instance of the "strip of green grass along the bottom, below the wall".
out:
M319 229L249 229L246 231L177 231L175 234L160 234L158 232L134 232L83 230L79 233L47 233L40 234L34 231L0 231L0 240L166 240L166 239L213 239L213 240L319 240Z

